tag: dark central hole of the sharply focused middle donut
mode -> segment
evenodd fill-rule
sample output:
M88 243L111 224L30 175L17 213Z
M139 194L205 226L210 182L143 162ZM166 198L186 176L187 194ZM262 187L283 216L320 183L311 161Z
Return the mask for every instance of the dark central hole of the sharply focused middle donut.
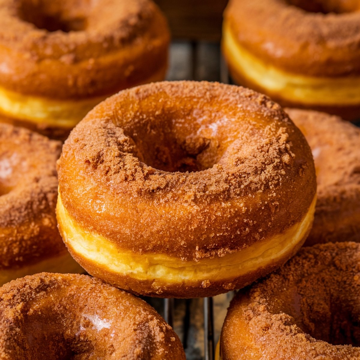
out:
M148 127L126 133L134 140L145 164L168 172L195 172L213 167L226 148L219 121L199 123L193 116L159 118ZM188 124L188 126L186 126ZM218 134L213 129L217 128ZM225 134L224 134L225 135Z

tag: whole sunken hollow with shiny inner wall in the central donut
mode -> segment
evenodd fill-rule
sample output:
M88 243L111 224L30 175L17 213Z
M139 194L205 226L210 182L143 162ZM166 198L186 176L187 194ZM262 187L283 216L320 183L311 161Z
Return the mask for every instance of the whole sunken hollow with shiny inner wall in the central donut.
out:
M133 102L118 104L114 112L115 124L134 141L141 161L157 170L207 170L219 163L235 139L241 138L239 122L229 108L225 113L220 105L217 108L212 104L210 109L190 100L176 109L171 103L154 108L158 103L157 94L150 95L142 100L136 116L137 104Z

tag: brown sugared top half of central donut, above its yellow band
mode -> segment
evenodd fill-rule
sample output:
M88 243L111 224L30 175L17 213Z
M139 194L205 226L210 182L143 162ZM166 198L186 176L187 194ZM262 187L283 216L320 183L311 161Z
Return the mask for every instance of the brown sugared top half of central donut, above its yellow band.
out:
M62 202L81 226L188 260L288 229L316 192L310 148L279 105L208 82L114 95L73 130L58 164Z

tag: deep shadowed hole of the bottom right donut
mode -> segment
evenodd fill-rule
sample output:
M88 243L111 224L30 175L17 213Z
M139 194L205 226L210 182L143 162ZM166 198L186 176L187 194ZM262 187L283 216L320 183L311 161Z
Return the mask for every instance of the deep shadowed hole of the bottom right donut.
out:
M322 275L316 272L293 288L285 285L276 312L291 315L303 332L317 340L360 346L359 293L350 285L354 280L344 279L343 271L333 268Z

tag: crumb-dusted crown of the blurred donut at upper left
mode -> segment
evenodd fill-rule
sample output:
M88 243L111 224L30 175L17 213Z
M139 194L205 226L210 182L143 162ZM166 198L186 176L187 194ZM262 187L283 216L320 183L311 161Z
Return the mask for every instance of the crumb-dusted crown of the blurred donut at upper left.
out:
M36 3L30 0L1 0L0 44L39 62L60 59L64 63L72 63L84 58L98 58L104 51L111 52L139 36L153 18L154 9L153 3L148 0L56 0ZM41 17L45 20L52 18L53 22L57 21L63 27L70 27L69 32L48 31L31 23L32 18L34 22L39 22ZM76 25L80 22L83 26L77 29Z

